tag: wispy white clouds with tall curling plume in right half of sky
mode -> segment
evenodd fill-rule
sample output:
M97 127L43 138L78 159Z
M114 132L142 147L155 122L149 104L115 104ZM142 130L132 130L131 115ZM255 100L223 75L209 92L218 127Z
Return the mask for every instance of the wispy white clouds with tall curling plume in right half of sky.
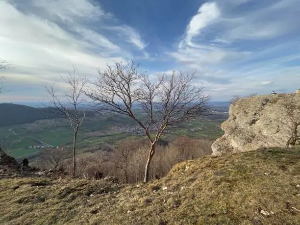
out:
M292 91L298 79L296 71L300 70L295 50L300 41L295 35L300 35L300 25L295 22L300 2L267 1L201 4L177 50L169 54L183 69L197 69L199 83L215 98L220 92L229 98L234 90L241 94L268 93L266 86Z

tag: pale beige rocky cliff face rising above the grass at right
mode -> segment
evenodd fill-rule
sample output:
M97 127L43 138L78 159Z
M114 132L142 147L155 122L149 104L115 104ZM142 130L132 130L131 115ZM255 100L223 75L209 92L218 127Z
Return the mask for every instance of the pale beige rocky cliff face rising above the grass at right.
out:
M229 118L221 125L225 134L213 143L212 154L285 147L293 126L286 103L295 106L292 117L300 121L300 94L254 96L231 104Z

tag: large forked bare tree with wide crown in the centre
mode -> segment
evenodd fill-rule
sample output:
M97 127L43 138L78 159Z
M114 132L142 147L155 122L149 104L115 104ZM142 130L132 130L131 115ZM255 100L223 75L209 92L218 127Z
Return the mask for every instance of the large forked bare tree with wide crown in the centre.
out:
M100 103L100 108L127 115L143 128L150 141L144 177L148 182L155 144L163 132L169 126L193 120L207 112L210 96L203 93L203 87L192 86L195 73L173 71L172 75L160 75L157 82L152 82L138 68L134 62L115 62L113 67L107 65L106 71L99 70L95 91L87 95ZM139 106L137 110L135 104ZM139 110L143 111L145 118L138 116ZM155 132L152 135L153 127Z

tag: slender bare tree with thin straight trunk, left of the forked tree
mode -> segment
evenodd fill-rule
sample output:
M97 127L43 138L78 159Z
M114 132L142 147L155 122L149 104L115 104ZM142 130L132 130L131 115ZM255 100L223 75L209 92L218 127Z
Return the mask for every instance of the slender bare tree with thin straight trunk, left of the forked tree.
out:
M77 133L85 118L84 109L79 109L84 100L84 88L88 83L86 75L79 74L74 68L74 74L68 74L65 78L61 77L67 84L65 91L57 92L54 86L46 87L50 95L50 107L70 121L74 132L73 140L73 177L76 174L76 140Z

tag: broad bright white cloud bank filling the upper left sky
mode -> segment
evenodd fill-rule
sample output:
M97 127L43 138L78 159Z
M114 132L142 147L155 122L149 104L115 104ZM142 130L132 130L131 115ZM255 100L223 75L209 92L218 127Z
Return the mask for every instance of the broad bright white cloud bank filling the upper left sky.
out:
M1 72L8 78L5 86L11 91L0 95L0 101L13 98L20 90L28 98L29 90L36 90L36 98L41 98L46 95L44 85L58 83L60 74L72 70L73 65L93 79L97 76L97 68L104 68L113 60L126 62L132 55L132 48L119 46L124 39L119 39L118 35L124 35L125 31L115 30L111 34L114 36L106 36L95 29L99 26L88 26L91 22L100 22L101 28L105 20L116 20L89 0L33 0L26 3L26 12L23 12L18 2L0 1L0 57L14 66ZM132 27L125 27L134 46L145 48L139 34Z

